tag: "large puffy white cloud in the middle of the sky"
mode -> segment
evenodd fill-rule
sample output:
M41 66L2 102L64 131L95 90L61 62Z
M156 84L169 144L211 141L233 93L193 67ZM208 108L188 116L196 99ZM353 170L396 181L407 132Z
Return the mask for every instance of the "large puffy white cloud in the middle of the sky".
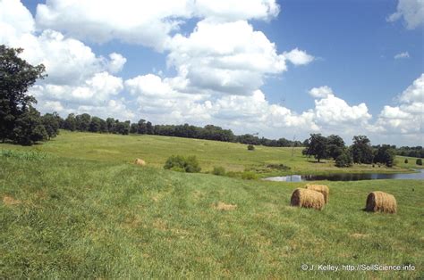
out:
M176 35L168 47L168 65L191 91L250 95L267 74L286 70L284 55L247 21L199 21L190 36Z

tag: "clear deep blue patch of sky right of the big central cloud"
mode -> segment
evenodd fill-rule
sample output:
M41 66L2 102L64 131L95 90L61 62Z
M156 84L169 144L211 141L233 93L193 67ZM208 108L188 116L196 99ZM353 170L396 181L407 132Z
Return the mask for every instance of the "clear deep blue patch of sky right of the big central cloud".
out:
M280 89L288 105L299 110L313 101L307 91L329 85L348 103L365 102L378 113L392 103L423 70L423 31L402 21L386 22L396 1L282 1L276 21L258 24L282 49L300 46L319 57L306 68L284 73L267 86L272 100ZM411 59L394 60L408 52ZM301 102L298 102L301 98ZM299 106L299 107L297 107Z

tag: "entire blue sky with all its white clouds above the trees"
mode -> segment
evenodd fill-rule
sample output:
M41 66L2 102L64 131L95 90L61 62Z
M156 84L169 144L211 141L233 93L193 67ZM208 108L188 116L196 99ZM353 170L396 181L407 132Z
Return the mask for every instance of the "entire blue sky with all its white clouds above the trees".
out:
M49 62L54 47L57 63L83 65L80 73L65 70L72 82L53 74L34 88L41 111L212 123L268 137L366 134L377 143L423 144L422 1L159 2L111 0L94 9L102 2L0 0L22 14L4 15L4 24L18 30L16 22L26 22L0 43L49 49L45 57L24 54L47 71L61 69ZM169 19L178 28L163 32ZM68 50L72 42L83 47ZM120 55L115 70L112 53Z

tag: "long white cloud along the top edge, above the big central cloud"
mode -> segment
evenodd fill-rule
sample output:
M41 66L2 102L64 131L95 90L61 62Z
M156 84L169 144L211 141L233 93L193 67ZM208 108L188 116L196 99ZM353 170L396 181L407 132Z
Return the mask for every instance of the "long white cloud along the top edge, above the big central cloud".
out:
M278 12L275 0L47 0L38 4L37 24L98 43L118 39L163 50L170 33L192 17L269 20Z

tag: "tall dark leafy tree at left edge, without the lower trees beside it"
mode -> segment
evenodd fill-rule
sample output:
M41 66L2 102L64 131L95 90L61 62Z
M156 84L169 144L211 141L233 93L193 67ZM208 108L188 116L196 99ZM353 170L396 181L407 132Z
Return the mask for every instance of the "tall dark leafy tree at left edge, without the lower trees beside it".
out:
M0 45L0 138L3 142L6 138L14 139L18 131L26 131L21 128L13 130L18 119L21 118L22 124L22 118L34 116L35 109L30 108L37 101L27 91L38 78L46 77L44 65L31 65L19 57L21 52L21 48Z

